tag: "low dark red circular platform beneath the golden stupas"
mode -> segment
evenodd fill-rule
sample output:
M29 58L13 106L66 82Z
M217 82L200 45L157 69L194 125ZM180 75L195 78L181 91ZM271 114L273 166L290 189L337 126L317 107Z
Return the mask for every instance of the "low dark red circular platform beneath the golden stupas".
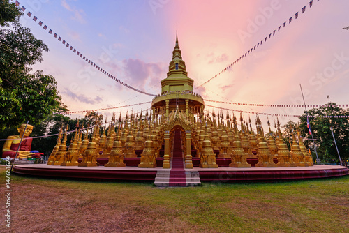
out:
M15 165L15 174L36 177L60 177L72 179L97 179L114 181L153 181L163 167L64 167L46 164ZM291 179L318 179L348 175L348 167L339 165L313 165L312 167L218 167L185 169L197 171L200 181L273 181Z

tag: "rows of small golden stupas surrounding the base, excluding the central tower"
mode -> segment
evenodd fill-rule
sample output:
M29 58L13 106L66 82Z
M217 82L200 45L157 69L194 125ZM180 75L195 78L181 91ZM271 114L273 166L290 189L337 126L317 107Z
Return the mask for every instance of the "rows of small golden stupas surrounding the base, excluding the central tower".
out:
M214 114L214 113L213 113ZM221 115L222 116L222 115ZM57 144L48 160L48 165L61 166L97 166L98 158L109 158L105 167L124 167L124 158L137 158L136 151L142 151L138 167L156 167L156 158L161 156L160 150L165 143L165 128L168 123L184 121L192 125L191 133L181 130L181 140L184 153L185 167L192 168L191 151L196 151L200 158L200 167L218 167L217 158L231 158L230 167L251 167L247 163L248 158L257 158L259 167L296 167L311 166L313 161L306 151L297 128L298 142L295 132L292 132L291 151L283 140L278 121L276 133L272 133L269 126L269 137L265 137L262 123L257 117L257 133L240 117L240 129L237 127L237 119L233 116L232 123L228 119L226 123L223 118L216 120L214 117L188 118L184 112L172 111L168 119L155 117L155 121L147 117L126 117L120 123L112 123L106 128L94 126L93 133L85 134L82 140L82 130L76 129L72 142L67 151L66 133L59 133ZM269 124L269 121L268 121ZM115 126L117 132L115 131ZM68 128L66 129L66 131ZM107 132L107 133L106 133ZM174 130L168 133L168 139L173 138ZM188 138L188 136L190 138ZM190 140L191 142L188 144ZM172 151L172 140L168 140L168 149L163 155L163 168L170 168L170 151ZM186 147L188 146L188 148ZM216 153L218 152L218 155ZM81 163L78 160L82 159ZM277 158L278 163L274 163Z

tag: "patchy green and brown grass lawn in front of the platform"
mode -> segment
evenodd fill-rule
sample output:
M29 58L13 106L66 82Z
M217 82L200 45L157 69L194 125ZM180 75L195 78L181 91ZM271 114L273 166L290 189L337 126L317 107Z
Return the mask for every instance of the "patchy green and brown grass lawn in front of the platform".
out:
M11 186L12 232L349 232L349 176L156 188L13 174Z

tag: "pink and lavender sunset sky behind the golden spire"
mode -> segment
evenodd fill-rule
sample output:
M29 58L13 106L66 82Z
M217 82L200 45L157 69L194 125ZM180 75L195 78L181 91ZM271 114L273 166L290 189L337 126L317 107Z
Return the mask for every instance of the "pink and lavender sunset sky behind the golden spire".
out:
M153 97L123 87L103 75L62 45L54 33L119 80L154 94L161 92L160 81L166 77L172 59L176 29L188 77L194 80L195 87L263 40L262 45L232 69L215 77L204 88L194 87L194 91L207 100L301 105L299 84L302 84L307 105L325 104L327 96L337 104L349 104L349 30L343 29L349 26L349 1L313 0L311 8L309 1L19 2L26 7L22 24L50 49L35 69L55 77L70 111L144 103ZM28 10L31 17L27 16ZM32 20L34 16L38 17L36 22ZM41 27L39 20L43 22ZM48 33L49 29L52 34ZM269 33L273 35L274 30L275 35L269 39ZM290 107L206 104L273 114L304 111ZM126 114L131 109L137 112L150 106L124 107L122 112ZM112 112L119 114L119 110L100 113L110 119ZM266 116L261 119L267 121ZM283 123L297 120L296 117L279 119Z

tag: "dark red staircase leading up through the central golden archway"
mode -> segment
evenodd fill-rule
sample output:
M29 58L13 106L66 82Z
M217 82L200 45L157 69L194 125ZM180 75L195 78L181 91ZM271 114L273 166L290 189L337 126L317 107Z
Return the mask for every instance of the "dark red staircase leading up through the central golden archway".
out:
M181 147L181 131L174 131L172 169L168 186L186 186L186 172L184 170L183 149Z

